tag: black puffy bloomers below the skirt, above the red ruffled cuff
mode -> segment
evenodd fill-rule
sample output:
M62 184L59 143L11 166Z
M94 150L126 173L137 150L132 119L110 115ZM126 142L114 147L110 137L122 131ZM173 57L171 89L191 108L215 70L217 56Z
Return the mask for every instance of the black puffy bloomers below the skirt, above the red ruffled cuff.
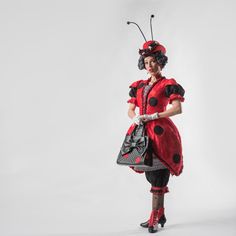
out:
M153 187L166 187L169 182L170 171L168 169L145 171L145 176Z

